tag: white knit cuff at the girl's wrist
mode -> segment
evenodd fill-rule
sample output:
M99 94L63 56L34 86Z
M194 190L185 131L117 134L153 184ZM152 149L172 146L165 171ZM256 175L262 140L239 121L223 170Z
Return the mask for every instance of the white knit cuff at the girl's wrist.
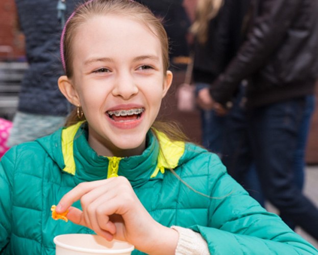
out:
M208 244L200 233L189 228L172 226L179 233L176 255L209 255Z

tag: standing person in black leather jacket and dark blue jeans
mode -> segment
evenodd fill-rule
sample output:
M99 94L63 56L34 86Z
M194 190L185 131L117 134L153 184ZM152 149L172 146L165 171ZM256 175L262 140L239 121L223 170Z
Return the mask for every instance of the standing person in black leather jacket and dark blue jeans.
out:
M226 113L239 82L249 78L247 129L264 195L287 223L318 240L318 210L293 182L292 170L318 76L318 2L253 0L251 14L247 40L200 104Z

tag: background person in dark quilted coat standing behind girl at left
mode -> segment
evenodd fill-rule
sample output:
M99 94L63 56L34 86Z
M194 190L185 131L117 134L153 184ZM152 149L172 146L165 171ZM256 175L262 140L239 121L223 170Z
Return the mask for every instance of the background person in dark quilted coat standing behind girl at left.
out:
M15 0L29 68L21 82L8 146L51 134L64 124L70 105L57 87L64 73L59 57L61 22L80 2Z

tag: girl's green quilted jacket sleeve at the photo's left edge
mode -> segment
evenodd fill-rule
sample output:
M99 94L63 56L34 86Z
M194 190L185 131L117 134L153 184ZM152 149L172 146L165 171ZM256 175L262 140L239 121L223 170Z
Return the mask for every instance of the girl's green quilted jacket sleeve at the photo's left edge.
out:
M10 149L0 161L0 253L9 242L11 233L13 169L14 149Z

